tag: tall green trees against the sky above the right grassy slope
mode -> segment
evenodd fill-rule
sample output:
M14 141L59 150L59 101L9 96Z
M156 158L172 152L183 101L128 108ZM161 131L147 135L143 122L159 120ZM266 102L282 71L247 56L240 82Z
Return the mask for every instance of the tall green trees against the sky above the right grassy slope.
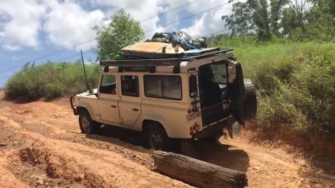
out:
M230 0L234 2L234 0ZM232 4L225 18L233 35L256 34L258 40L273 36L294 41L325 41L335 38L334 0L247 0Z

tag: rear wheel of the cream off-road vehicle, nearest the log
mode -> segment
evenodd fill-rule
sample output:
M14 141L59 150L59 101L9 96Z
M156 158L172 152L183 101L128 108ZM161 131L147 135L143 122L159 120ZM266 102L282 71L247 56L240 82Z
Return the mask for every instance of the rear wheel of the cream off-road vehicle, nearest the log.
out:
M152 150L168 150L170 139L159 123L150 123L144 129L144 143Z

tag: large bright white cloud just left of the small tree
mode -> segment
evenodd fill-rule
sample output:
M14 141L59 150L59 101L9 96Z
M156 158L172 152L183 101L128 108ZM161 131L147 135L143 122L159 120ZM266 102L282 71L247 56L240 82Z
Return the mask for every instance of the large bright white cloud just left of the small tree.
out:
M52 44L73 49L78 42L90 40L76 49L87 50L96 46L96 31L92 28L101 22L101 10L84 10L80 4L71 1L52 1L45 15L45 33Z

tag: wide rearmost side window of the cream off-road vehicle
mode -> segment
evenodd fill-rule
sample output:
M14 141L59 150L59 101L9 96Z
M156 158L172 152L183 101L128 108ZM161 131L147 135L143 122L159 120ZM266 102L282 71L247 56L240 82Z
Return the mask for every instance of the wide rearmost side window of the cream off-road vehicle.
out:
M174 75L144 75L146 97L181 100L181 77Z

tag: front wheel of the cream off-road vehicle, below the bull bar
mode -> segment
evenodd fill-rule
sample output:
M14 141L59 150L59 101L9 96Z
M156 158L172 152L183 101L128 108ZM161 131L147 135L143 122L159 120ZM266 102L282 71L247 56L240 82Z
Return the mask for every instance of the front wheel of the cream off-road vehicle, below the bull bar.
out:
M84 134L98 134L101 124L92 120L89 112L83 110L79 113L79 126Z

